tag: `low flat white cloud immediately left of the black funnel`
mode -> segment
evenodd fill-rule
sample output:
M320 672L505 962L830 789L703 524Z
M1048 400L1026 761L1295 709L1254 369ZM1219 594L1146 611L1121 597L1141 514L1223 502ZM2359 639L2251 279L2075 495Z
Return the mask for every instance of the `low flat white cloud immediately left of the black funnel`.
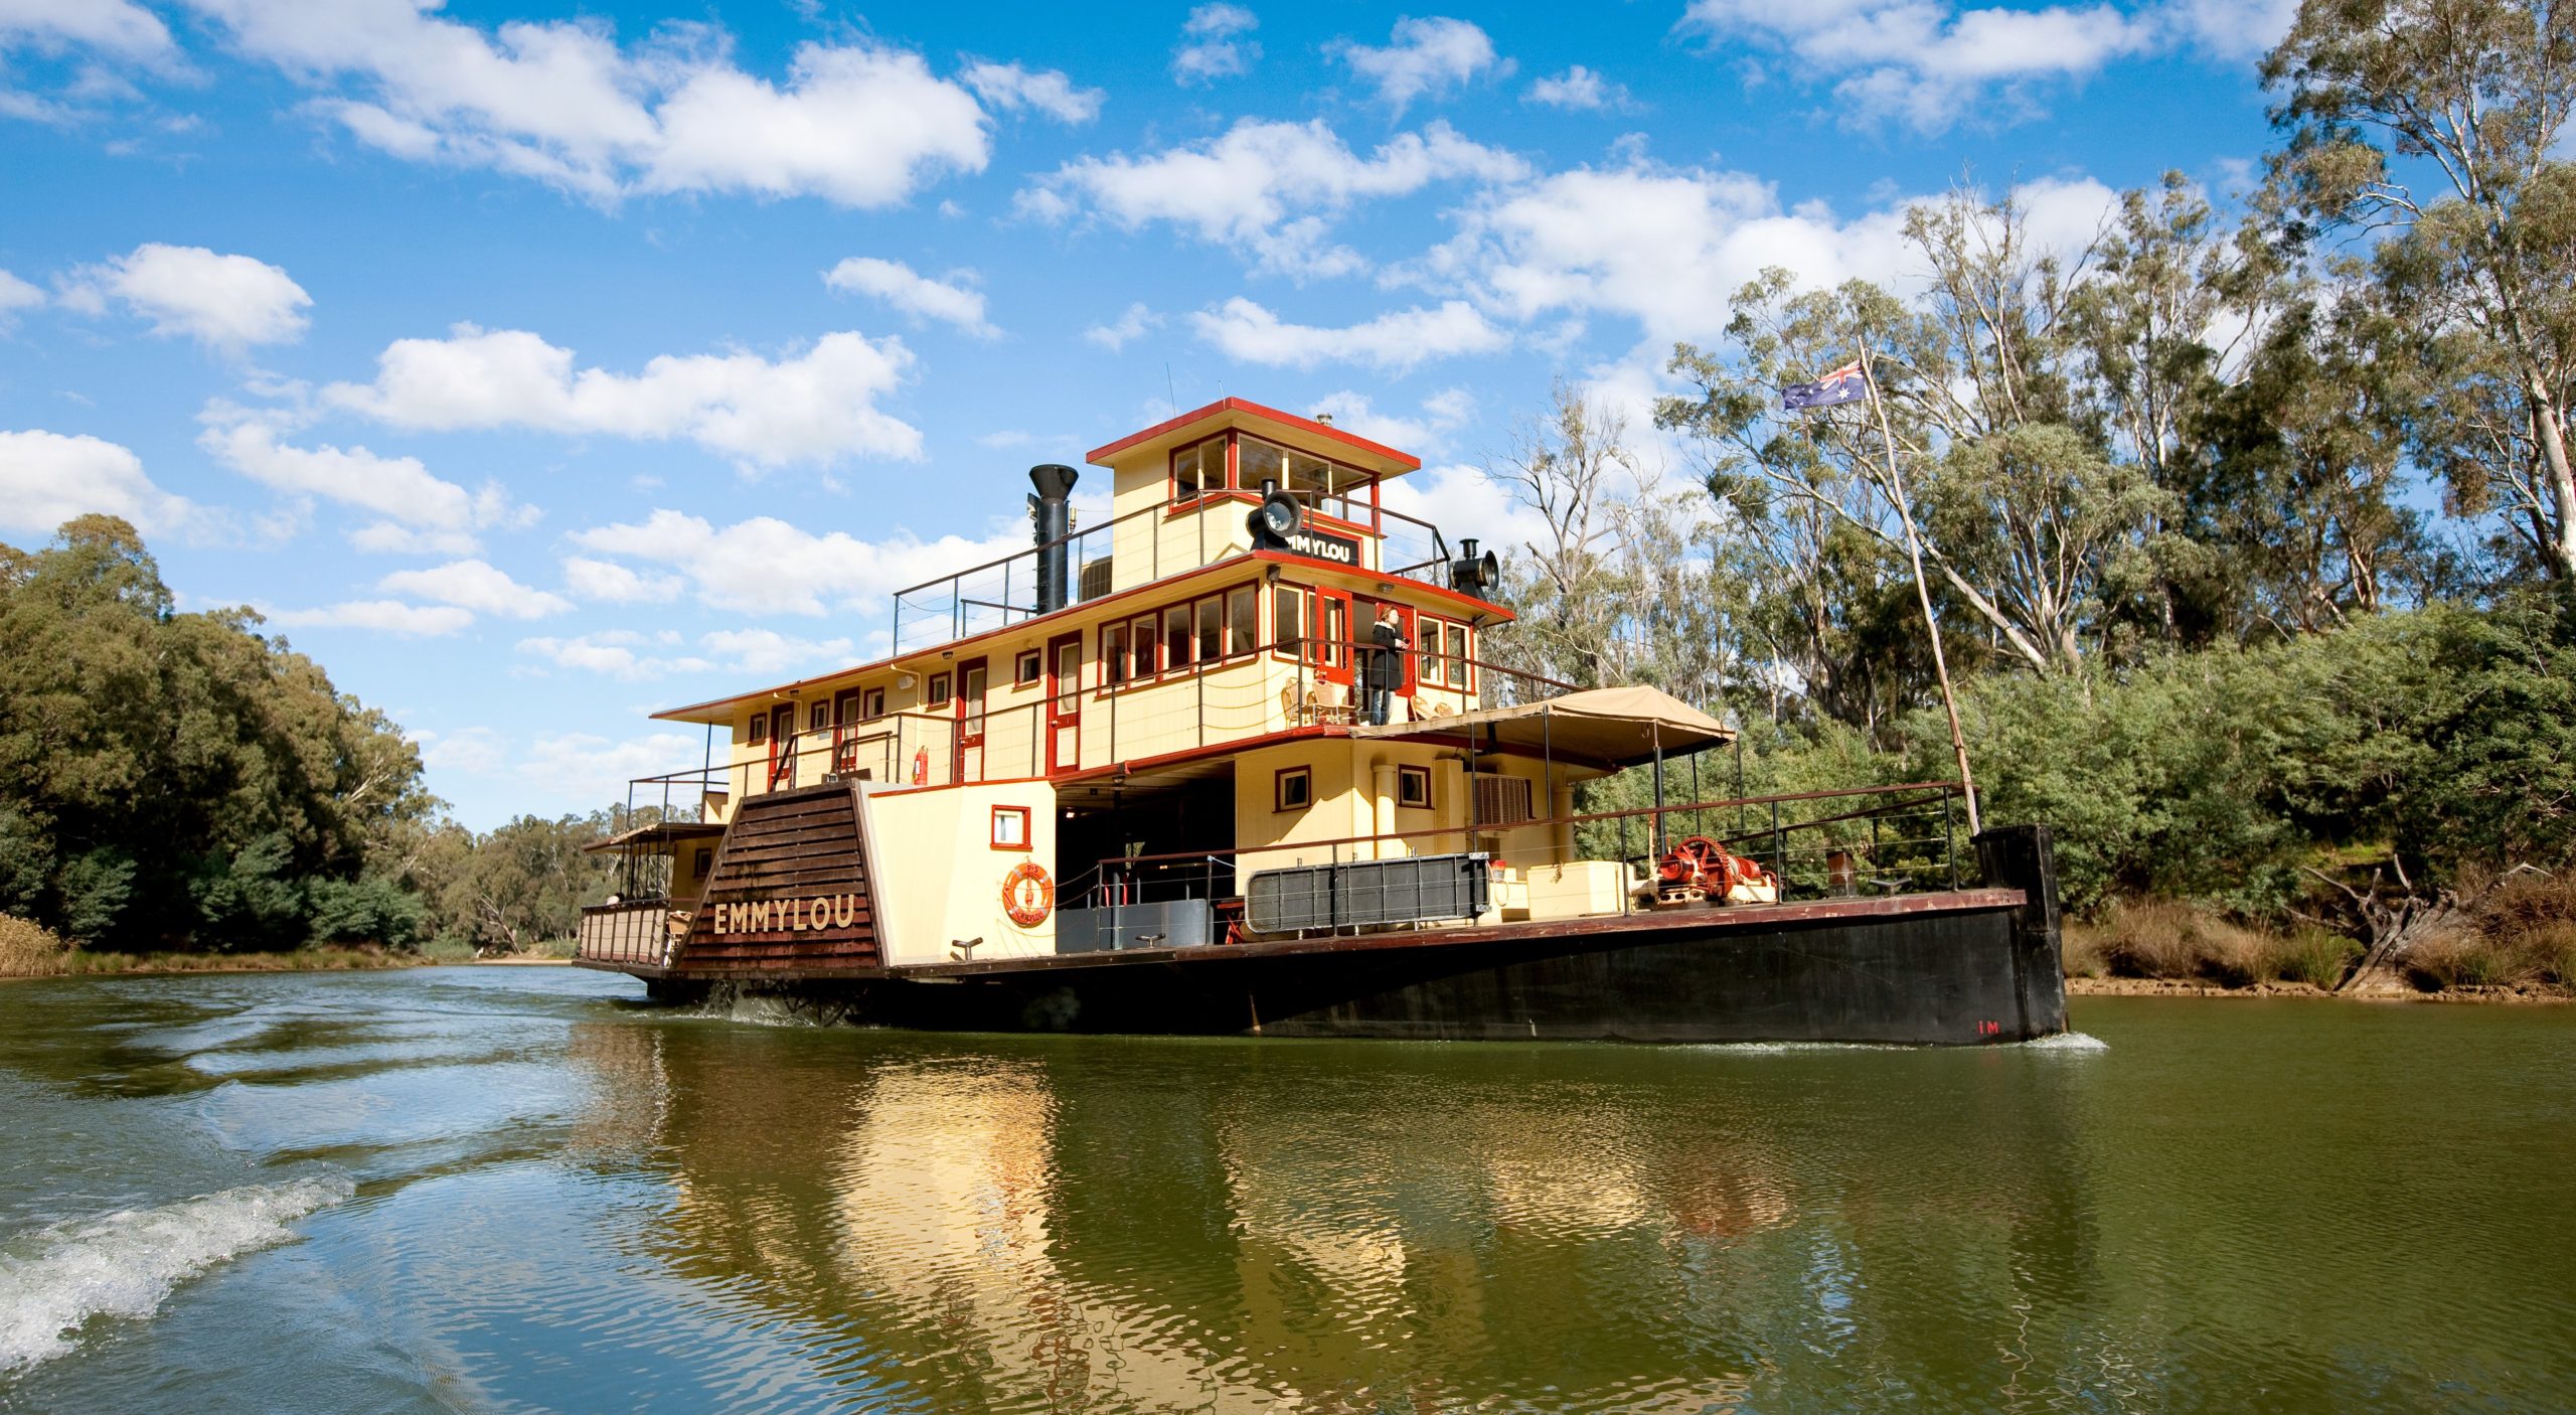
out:
M1023 552L1028 523L1010 518L984 541L860 541L845 531L817 536L773 515L714 526L698 515L654 510L639 523L574 531L572 544L685 575L708 608L824 613L876 608L894 590Z

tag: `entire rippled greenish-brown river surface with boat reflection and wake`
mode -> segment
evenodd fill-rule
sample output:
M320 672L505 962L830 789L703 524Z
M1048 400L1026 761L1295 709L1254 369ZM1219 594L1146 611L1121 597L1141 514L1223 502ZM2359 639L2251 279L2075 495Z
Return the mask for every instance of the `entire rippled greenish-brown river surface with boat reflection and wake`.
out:
M2571 1410L2576 1008L1994 1049L0 985L0 1410Z

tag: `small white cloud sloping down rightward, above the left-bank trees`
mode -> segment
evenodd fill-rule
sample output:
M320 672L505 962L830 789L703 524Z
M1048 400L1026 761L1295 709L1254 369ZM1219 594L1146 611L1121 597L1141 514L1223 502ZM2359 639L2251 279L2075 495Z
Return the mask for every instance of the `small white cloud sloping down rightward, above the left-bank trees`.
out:
M312 495L371 510L386 521L428 531L469 531L474 526L518 526L533 518L528 508L487 485L469 492L443 482L417 456L379 456L363 446L301 448L278 441L294 428L294 415L250 410L214 399L198 415L206 425L196 446L234 472L281 492ZM361 531L358 549L412 549L399 534ZM417 541L415 541L417 544Z

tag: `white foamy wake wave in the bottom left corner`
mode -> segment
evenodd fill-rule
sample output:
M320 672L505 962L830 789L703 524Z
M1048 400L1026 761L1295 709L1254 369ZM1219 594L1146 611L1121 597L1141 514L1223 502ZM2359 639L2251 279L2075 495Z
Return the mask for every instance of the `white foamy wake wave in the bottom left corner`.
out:
M170 1291L350 1196L348 1178L252 1183L54 1224L0 1253L0 1374L72 1351L90 1317L149 1317Z

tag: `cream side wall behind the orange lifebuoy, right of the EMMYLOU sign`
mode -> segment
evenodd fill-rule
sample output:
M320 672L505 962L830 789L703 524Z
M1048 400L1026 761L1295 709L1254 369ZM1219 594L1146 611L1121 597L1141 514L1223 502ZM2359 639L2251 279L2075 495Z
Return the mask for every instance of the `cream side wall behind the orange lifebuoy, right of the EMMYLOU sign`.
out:
M1036 861L1056 871L1056 789L1043 781L958 786L953 791L868 789L868 848L876 879L878 943L889 964L948 961L948 946L981 938L976 959L1056 951L1056 915L1036 928L1010 923L1002 879ZM1028 851L992 848L992 807L1028 807Z

